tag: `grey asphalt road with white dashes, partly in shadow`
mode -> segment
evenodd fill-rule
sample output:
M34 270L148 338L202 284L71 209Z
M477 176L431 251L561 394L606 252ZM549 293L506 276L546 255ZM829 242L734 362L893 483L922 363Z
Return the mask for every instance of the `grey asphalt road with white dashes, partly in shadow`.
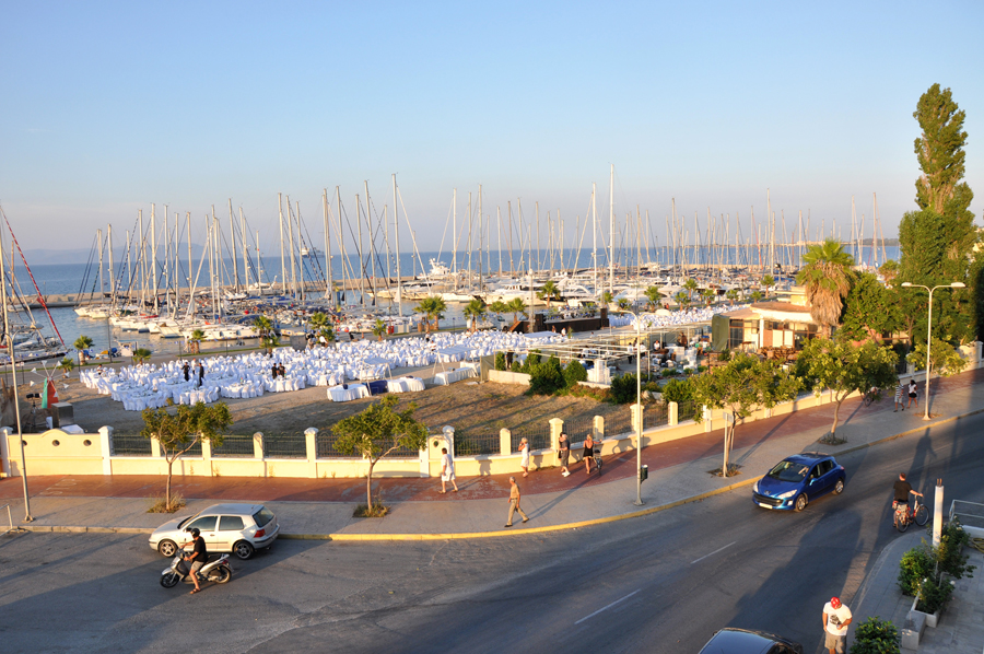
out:
M891 483L984 500L984 416L842 457L843 495L801 514L741 489L588 529L419 544L279 541L196 596L159 585L145 536L0 539L4 652L698 652L721 627L822 652L895 538ZM915 528L915 527L914 527Z

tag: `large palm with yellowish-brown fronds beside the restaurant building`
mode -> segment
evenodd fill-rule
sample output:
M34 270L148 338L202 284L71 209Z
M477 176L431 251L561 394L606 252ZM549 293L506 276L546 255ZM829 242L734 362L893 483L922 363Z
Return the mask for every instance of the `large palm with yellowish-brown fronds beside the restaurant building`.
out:
M841 322L844 299L851 290L854 257L840 243L828 238L811 245L803 261L796 283L806 287L810 316L823 328L824 336L830 336L831 327Z

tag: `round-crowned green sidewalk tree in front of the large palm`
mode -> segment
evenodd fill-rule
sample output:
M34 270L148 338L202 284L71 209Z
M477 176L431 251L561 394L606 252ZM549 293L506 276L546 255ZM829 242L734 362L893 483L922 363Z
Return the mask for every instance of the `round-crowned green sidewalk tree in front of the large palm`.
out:
M797 375L809 388L829 388L833 394L834 418L831 440L836 439L841 405L852 393L867 393L870 388L889 388L898 379L895 363L899 357L875 341L855 346L846 337L815 338L803 347L797 359Z

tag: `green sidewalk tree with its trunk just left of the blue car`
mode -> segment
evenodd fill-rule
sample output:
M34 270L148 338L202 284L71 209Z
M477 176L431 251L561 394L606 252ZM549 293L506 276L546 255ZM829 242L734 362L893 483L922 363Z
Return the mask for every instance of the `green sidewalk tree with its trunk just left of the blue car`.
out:
M725 424L723 477L730 475L735 433L745 419L758 409L771 409L793 399L800 386L799 379L784 371L777 361L760 361L742 352L735 352L725 365L691 377L690 383L695 402L734 416L734 421ZM696 420L703 420L703 416L698 413Z

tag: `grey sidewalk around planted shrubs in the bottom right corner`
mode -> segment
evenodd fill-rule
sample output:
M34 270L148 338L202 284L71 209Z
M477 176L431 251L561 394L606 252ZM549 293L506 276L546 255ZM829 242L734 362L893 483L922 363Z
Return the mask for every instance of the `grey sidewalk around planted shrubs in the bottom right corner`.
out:
M854 642L854 629L871 616L891 620L901 635L905 619L912 608L912 597L905 597L899 589L899 561L902 554L919 545L926 538L924 529L900 536L886 547L878 557L871 572L857 593L854 621L847 642ZM919 654L981 654L984 651L984 554L974 549L970 553L970 564L976 565L973 577L957 582L950 605L939 617L939 624L927 627L919 640ZM903 654L916 650L903 649Z

